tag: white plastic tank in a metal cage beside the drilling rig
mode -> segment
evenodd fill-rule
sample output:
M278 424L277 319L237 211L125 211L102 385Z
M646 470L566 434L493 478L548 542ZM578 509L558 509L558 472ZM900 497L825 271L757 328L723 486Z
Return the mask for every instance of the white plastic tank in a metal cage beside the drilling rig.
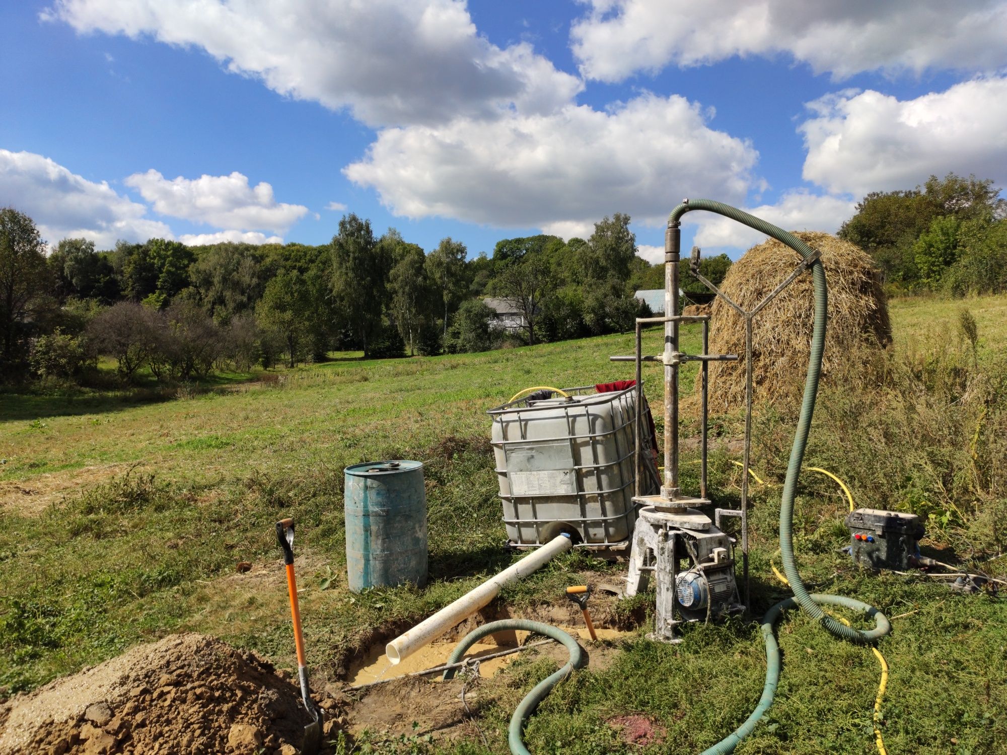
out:
M522 399L489 411L503 523L512 545L539 546L571 533L586 546L623 547L636 521L634 389ZM590 392L590 393L587 393ZM642 426L641 491L658 489L651 426Z

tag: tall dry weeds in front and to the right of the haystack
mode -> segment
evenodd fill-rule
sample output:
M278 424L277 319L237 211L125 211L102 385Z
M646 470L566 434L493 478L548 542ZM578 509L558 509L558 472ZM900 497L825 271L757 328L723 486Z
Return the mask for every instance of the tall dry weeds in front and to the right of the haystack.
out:
M823 381L806 465L846 480L858 506L910 511L963 555L1007 546L1007 359L976 358L963 337L854 354ZM970 332L971 331L971 332ZM782 477L795 404L759 415L753 434L767 471Z

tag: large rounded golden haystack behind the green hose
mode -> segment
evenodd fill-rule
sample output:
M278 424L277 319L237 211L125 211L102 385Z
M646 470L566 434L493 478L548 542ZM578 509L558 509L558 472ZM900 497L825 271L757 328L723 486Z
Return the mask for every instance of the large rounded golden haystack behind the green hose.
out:
M871 258L830 234L795 234L822 253L829 287L829 322L823 375L843 360L883 348L891 323ZM752 247L731 266L721 290L751 310L801 262L801 256L775 239ZM811 273L804 273L762 309L752 322L752 384L756 402L799 394L808 370L813 330ZM745 323L719 297L710 312L710 353L734 353L738 361L710 365L710 411L744 406ZM697 381L697 386L699 382Z

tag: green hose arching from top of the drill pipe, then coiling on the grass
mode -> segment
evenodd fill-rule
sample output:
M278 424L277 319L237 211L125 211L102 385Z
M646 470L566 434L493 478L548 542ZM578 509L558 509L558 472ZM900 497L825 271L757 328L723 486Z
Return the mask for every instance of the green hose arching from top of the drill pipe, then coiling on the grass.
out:
M808 433L811 430L812 416L815 414L815 399L818 396L819 376L822 373L822 353L825 350L825 330L828 308L828 291L826 289L825 268L822 261L818 259L815 250L798 239L794 234L789 234L770 222L766 222L754 215L750 215L737 207L729 204L713 201L711 199L686 199L679 204L668 217L668 231L666 234L666 249L678 255L681 252L681 226L682 215L692 209L705 209L710 212L730 217L744 225L772 237L778 242L785 244L793 249L805 261L811 260L812 285L815 292L815 319L812 334L811 355L808 360L808 376L805 379L805 395L801 405L801 416L798 419L798 428L794 434L794 445L790 448L790 460L786 465L786 477L783 482L783 494L779 505L779 550L783 561L783 572L790 589L794 590L794 598L777 603L765 614L762 619L762 636L766 646L766 681L762 690L762 698L758 706L733 734L717 743L704 753L704 755L720 755L734 750L741 738L746 736L754 728L755 724L768 710L772 703L772 696L776 690L776 682L779 677L779 646L773 634L773 625L783 610L794 607L795 603L811 616L815 621L822 624L832 634L851 642L868 644L874 642L879 637L884 636L891 630L891 625L884 617L884 614L877 609L868 606L852 598L842 598L832 595L810 595L805 583L798 574L797 562L794 558L794 498L797 494L798 476L801 473L801 466L804 463L805 447L808 444ZM830 605L842 605L855 608L870 613L875 617L875 627L867 631L861 631L840 623L822 610L820 603Z

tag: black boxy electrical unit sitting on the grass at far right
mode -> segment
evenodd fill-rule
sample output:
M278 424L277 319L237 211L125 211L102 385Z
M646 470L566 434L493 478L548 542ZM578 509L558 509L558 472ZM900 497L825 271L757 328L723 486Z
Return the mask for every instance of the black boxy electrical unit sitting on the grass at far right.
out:
M865 569L904 571L919 553L923 525L914 513L858 508L846 516L850 555Z

